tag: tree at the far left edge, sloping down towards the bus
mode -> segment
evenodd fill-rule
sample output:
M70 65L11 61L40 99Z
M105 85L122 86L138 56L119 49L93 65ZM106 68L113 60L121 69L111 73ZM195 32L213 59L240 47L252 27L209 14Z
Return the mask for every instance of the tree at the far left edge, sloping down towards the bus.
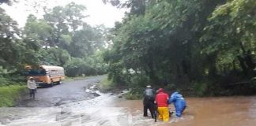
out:
M11 72L21 72L25 64L39 62L36 51L40 46L34 39L24 38L16 21L0 9L0 66Z

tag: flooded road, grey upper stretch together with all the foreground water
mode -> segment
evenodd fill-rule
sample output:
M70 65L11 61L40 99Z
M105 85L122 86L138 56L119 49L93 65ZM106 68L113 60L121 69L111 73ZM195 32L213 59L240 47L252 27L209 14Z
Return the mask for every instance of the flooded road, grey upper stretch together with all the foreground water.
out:
M168 123L142 117L142 101L92 94L90 84L102 76L39 89L36 99L0 108L0 126L254 126L256 97L186 98L183 117ZM93 97L94 96L94 97ZM174 111L173 105L169 106Z

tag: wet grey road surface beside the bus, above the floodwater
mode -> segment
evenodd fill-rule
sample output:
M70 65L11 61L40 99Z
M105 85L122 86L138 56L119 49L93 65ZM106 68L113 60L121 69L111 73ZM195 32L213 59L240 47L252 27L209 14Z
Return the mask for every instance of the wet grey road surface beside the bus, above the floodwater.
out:
M99 83L104 76L88 77L85 80L66 81L54 87L39 88L36 99L24 96L19 107L51 107L60 106L67 102L87 100L93 96L86 93L85 89L91 84Z

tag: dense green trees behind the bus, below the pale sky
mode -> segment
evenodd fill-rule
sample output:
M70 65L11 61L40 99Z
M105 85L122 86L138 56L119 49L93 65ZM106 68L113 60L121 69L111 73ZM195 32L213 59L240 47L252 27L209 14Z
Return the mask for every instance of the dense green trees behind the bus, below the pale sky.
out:
M0 8L0 83L17 80L10 76L24 80L25 65L63 66L67 76L104 74L107 28L86 24L85 9L73 2L45 8L43 18L31 14L24 28L18 28Z

